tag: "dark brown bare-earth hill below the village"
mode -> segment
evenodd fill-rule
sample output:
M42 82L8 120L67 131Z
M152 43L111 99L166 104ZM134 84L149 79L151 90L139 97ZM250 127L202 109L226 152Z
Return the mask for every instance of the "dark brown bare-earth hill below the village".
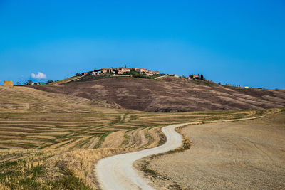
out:
M182 78L103 78L31 88L147 112L251 110L285 107L285 90L244 89Z

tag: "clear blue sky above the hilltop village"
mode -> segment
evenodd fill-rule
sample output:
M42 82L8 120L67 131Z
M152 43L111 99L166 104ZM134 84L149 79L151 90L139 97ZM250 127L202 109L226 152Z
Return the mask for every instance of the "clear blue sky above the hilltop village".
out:
M285 88L285 1L0 0L0 83L125 64Z

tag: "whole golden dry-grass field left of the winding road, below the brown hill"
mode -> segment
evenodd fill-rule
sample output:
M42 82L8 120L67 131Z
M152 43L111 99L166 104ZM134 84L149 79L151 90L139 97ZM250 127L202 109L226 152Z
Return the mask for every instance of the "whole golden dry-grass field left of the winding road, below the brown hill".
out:
M155 147L160 127L281 109L151 113L72 95L0 86L0 189L96 189L93 164Z

